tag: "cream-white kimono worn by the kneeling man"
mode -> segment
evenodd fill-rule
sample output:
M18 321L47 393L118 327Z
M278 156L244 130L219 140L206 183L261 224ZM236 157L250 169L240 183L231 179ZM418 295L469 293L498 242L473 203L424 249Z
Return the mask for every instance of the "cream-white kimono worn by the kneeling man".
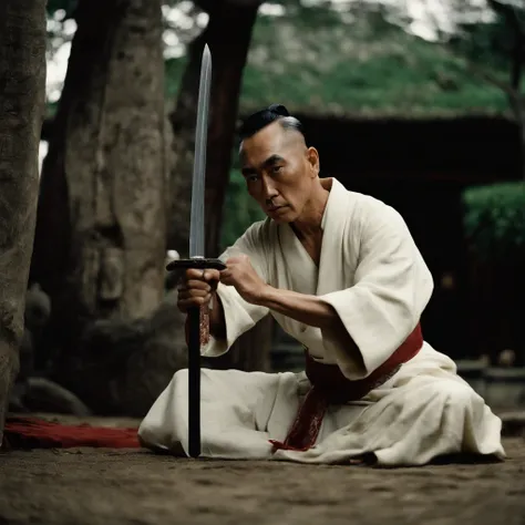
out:
M244 253L260 277L280 289L316 295L338 312L361 359L329 333L271 312L318 361L338 364L350 380L368 377L418 325L433 289L432 276L402 217L338 181L322 218L319 268L287 224L254 224L223 254ZM268 313L219 285L227 340L212 338L203 356L220 356ZM424 327L423 327L424 333ZM256 352L257 348L251 349ZM364 364L364 367L363 367ZM451 453L505 457L501 420L456 374L454 362L424 342L387 382L358 402L331 405L315 446L277 450L308 390L303 373L202 371L202 455L339 463L373 453L379 465L421 465ZM138 430L150 447L187 452L187 370L175 373Z

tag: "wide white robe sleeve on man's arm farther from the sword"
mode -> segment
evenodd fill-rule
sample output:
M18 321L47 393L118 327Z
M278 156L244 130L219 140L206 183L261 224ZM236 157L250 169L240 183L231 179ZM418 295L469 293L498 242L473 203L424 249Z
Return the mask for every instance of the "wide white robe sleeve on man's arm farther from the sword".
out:
M366 208L358 214L357 235L343 239L359 243L354 285L321 296L361 353L362 360L322 333L325 347L351 380L370 375L392 356L420 321L433 290L432 275L401 215L377 200Z

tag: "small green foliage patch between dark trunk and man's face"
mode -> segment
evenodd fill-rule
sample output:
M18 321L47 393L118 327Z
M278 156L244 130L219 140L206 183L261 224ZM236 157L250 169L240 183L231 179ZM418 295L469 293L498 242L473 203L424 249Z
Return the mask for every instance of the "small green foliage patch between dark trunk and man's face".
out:
M223 214L220 244L231 246L246 228L266 216L259 205L248 195L246 182L239 169L231 169Z

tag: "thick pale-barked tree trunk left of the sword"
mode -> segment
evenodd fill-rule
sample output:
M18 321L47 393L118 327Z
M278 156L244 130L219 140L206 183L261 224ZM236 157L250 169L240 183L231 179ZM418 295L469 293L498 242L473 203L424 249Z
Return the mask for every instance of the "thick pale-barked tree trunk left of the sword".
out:
M31 275L51 297L47 343L60 360L74 356L89 321L142 318L163 297L161 7L161 0L79 3L42 169Z

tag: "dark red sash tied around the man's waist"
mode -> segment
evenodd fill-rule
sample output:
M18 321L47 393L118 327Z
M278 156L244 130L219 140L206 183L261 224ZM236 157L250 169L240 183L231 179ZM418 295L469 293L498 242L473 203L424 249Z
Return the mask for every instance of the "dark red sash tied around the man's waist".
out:
M306 374L311 388L299 408L285 442L270 440L274 451L278 449L307 451L316 443L322 419L330 403L344 404L364 398L369 392L387 382L400 368L410 361L423 346L421 325L401 347L370 375L357 381L347 379L337 364L315 361L306 351Z

